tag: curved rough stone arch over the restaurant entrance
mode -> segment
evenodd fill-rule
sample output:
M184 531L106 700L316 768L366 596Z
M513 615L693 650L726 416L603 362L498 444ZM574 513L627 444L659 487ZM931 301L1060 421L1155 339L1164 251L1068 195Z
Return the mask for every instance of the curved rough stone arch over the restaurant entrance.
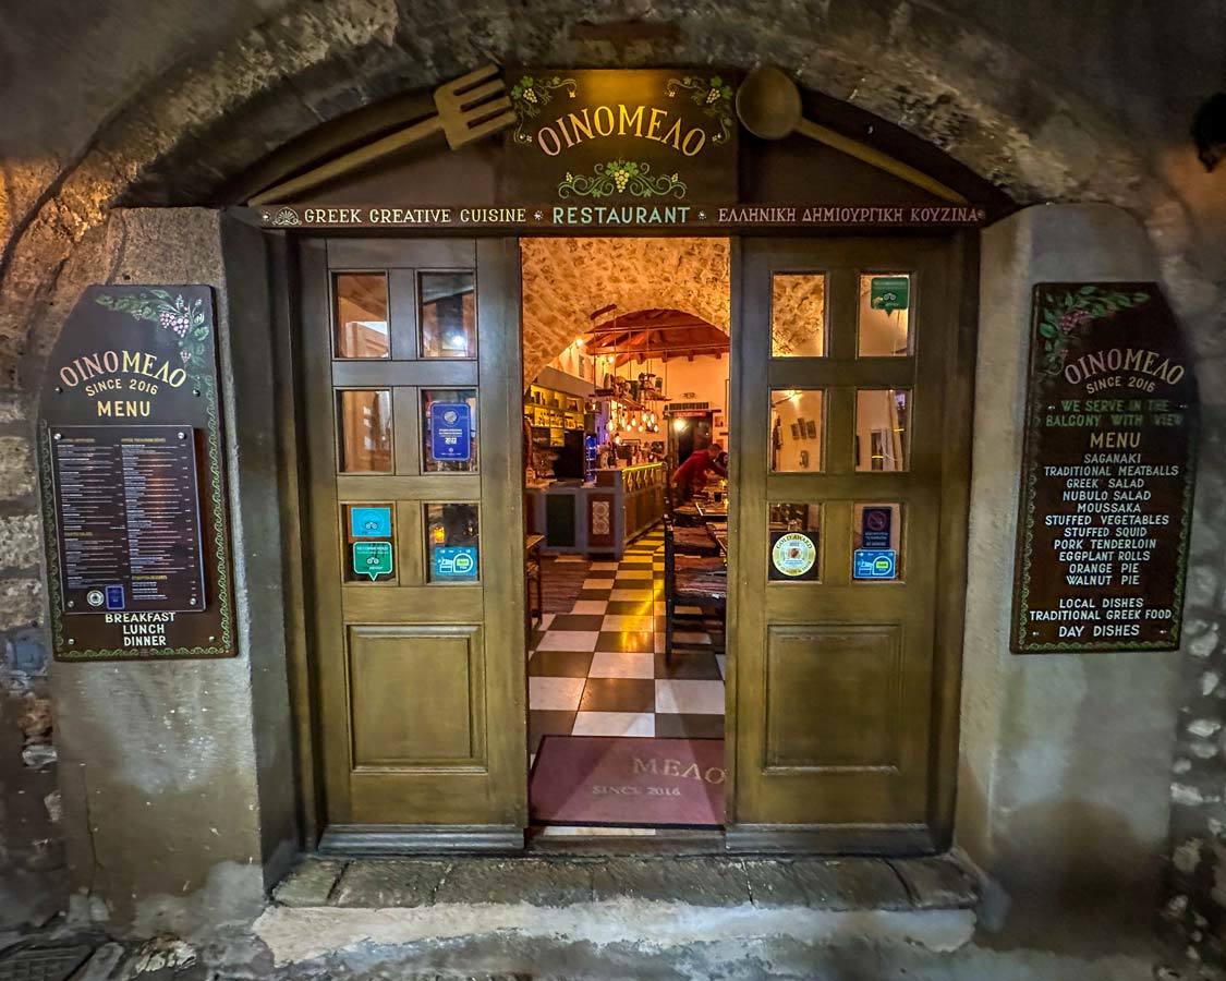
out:
M394 0L337 0L287 4L255 27L235 18L228 43L146 80L99 120L78 156L10 172L0 264L6 375L16 380L31 351L31 323L74 244L134 189L177 204L211 202L270 147L390 92L432 86L489 60L775 61L803 85L939 146L1020 201L1091 199L1139 210L1160 233L1177 305L1203 323L1222 315L1221 272L1200 269L1193 216L1168 184L1171 172L1190 170L1172 164L1163 174L1111 112L1045 85L1026 56L973 26L954 2L921 10L874 0L815 11L666 2L630 22L590 18L570 1L512 9L454 0L429 13Z

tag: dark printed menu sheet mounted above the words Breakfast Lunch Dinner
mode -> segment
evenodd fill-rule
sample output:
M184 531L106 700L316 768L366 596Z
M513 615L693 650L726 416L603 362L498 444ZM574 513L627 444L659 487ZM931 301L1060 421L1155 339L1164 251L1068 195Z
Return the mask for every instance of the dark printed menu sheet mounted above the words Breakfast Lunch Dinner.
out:
M205 606L190 427L51 429L66 613Z

